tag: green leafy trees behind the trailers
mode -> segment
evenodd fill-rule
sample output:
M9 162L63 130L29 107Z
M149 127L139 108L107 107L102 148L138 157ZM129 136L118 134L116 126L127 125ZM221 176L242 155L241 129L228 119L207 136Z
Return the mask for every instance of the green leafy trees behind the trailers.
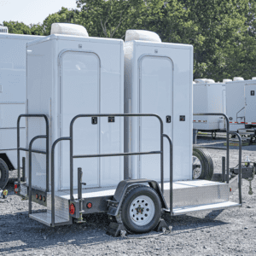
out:
M125 39L127 29L156 32L162 42L194 46L194 78L256 76L253 0L77 0L42 24L3 21L10 33L44 35L54 22L84 26L90 37Z

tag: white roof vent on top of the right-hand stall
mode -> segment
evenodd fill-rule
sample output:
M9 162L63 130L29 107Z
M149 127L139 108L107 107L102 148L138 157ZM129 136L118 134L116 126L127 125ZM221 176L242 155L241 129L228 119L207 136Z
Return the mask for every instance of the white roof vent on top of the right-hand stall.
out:
M129 42L132 40L142 40L142 41L150 41L150 42L161 42L159 35L155 32L147 31L147 30L127 30L125 32L125 42Z

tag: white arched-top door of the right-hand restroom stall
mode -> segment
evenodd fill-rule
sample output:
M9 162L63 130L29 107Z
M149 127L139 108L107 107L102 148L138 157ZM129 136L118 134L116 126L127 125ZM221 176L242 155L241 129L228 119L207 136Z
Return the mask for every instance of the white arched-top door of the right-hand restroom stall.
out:
M167 57L144 56L140 65L140 113L158 113L164 123L164 133L172 137L172 61ZM160 150L160 121L140 118L140 151ZM164 176L170 176L170 146L164 141ZM160 180L160 154L140 156L140 177Z

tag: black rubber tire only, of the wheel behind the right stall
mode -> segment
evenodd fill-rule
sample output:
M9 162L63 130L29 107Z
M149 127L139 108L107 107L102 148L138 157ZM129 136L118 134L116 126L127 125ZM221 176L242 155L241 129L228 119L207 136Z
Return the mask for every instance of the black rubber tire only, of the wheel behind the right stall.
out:
M193 148L193 156L197 157L197 159L201 162L201 174L198 179L211 180L214 167L212 158L208 151L203 148Z

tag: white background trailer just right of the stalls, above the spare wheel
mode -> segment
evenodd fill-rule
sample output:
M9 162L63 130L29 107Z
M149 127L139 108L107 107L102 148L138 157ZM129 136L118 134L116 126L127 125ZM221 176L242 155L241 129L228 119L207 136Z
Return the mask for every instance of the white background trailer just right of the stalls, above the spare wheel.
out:
M195 79L193 84L193 113L226 113L225 84L212 79ZM219 131L220 116L194 116L193 128L198 131Z

